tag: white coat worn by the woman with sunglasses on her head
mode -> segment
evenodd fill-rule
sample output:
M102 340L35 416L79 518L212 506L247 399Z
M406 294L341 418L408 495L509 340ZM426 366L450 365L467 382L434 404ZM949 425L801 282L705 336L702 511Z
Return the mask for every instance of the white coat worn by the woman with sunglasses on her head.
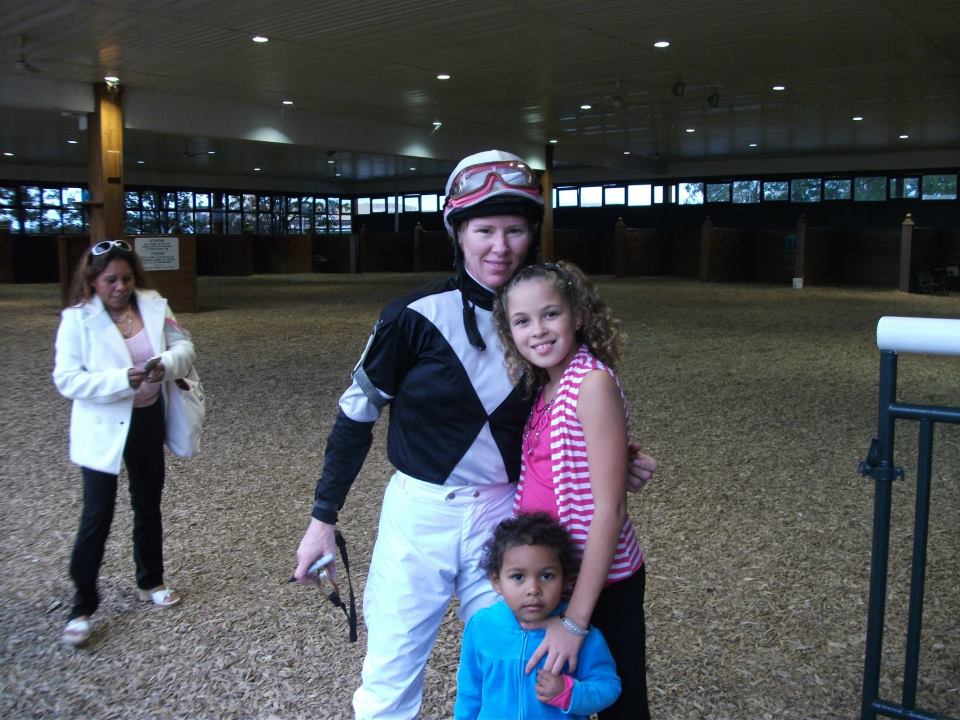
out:
M193 366L193 343L165 322L176 318L167 301L153 290L137 290L137 310L154 353L164 367L164 386L184 377ZM175 327L179 327L176 326ZM66 308L57 330L53 382L73 400L70 415L70 460L91 470L116 475L130 430L133 399L127 370L133 359L113 319L97 295Z

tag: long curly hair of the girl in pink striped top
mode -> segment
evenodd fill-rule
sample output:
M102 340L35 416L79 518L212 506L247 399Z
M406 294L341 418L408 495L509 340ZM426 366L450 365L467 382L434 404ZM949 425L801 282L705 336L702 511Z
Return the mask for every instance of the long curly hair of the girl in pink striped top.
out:
M528 395L547 382L547 371L524 358L513 342L507 304L510 291L525 280L543 280L553 284L567 298L570 309L581 321L577 330L577 342L586 345L590 352L604 364L616 371L623 355L624 334L610 308L600 297L593 283L583 271L570 262L527 265L517 270L506 284L497 291L493 316L497 334L503 345L507 373L515 382L523 382Z

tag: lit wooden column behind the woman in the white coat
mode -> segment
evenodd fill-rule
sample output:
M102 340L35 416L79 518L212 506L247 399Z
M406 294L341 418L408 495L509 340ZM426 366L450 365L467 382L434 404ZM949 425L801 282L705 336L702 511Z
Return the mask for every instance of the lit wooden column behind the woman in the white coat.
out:
M123 236L123 106L119 85L94 86L87 121L90 244Z

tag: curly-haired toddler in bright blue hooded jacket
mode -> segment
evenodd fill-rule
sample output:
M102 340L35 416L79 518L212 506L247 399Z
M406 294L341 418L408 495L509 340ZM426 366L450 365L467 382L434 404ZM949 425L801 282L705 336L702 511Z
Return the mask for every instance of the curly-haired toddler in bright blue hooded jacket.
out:
M484 547L483 569L501 599L467 623L457 670L455 720L587 718L620 695L607 643L591 628L573 673L524 666L544 631L524 629L556 614L577 571L573 542L546 513L504 520Z

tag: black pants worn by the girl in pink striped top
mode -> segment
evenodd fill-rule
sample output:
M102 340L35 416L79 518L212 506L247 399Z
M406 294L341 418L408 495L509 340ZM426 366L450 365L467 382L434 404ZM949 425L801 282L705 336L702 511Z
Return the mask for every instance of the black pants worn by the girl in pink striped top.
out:
M600 720L649 720L647 628L643 617L646 566L600 593L590 622L603 633L620 675L620 697Z

